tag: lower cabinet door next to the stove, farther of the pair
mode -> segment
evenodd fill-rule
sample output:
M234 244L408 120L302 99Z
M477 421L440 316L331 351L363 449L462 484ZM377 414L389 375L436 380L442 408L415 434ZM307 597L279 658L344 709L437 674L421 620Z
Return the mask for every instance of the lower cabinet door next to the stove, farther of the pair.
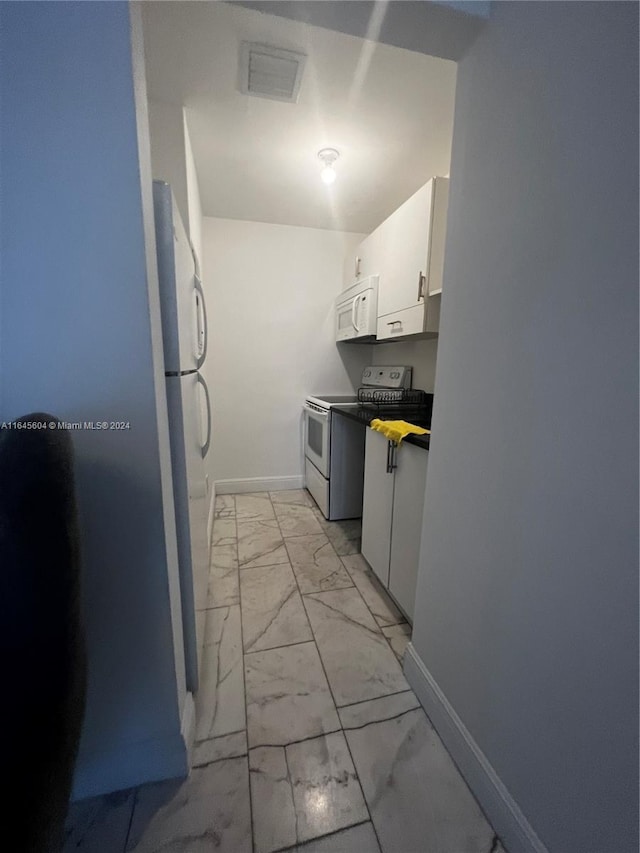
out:
M367 430L362 502L362 555L380 581L389 586L391 513L394 475L387 473L389 442L379 432Z

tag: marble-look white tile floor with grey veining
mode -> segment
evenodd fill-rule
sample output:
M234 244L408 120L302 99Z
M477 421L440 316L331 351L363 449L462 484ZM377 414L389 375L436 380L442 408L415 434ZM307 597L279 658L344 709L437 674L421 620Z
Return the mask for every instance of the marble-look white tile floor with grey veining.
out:
M505 853L359 535L304 491L218 497L191 774L74 804L65 853Z

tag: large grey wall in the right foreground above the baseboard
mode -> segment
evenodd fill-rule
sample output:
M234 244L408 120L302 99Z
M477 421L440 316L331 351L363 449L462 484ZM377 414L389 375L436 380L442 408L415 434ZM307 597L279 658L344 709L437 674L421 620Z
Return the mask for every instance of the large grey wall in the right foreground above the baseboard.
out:
M638 849L637 39L495 3L458 68L413 644L552 853Z

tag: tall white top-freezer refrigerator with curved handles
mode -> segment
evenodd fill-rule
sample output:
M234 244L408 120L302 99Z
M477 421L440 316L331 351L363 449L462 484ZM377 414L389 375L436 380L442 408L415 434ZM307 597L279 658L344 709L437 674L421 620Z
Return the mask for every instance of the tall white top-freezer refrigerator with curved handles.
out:
M199 372L207 354L207 315L198 261L168 184L153 182L153 203L186 680L187 690L195 692L202 657L196 611L206 609L209 573L203 459L211 410Z

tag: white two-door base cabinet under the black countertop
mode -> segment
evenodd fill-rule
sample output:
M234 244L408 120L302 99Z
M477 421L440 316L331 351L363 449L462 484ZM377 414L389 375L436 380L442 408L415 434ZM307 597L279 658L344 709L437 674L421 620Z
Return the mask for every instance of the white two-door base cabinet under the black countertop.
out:
M413 622L429 452L367 430L362 555ZM395 466L395 467L394 467Z

